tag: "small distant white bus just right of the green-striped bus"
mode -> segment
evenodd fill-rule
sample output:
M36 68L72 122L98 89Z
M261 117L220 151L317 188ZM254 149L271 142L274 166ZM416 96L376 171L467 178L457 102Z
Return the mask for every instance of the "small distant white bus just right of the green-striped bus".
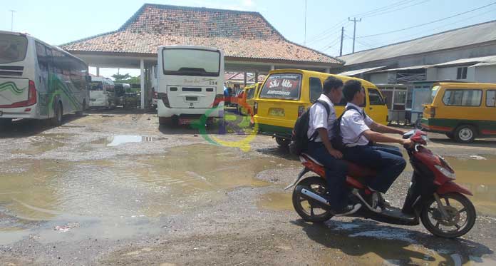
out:
M90 107L114 108L115 85L110 78L92 77L90 83Z

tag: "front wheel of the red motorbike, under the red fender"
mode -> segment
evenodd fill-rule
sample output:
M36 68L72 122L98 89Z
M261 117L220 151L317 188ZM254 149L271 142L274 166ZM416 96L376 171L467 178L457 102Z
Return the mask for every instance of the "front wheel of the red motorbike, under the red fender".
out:
M472 202L460 193L439 195L441 205L432 198L425 204L420 220L429 232L438 237L455 238L465 235L475 224L475 208ZM443 208L448 218L443 218Z

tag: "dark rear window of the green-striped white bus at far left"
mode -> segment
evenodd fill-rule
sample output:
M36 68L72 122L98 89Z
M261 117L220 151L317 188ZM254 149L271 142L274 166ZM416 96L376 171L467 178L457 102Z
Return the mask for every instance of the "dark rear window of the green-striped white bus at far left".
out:
M28 39L25 36L0 34L0 63L23 61L28 51Z

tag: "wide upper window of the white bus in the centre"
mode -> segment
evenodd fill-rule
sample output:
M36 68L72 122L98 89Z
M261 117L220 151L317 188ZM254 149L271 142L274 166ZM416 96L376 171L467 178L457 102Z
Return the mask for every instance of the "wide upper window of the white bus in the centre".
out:
M165 75L219 76L219 51L164 48L162 58Z

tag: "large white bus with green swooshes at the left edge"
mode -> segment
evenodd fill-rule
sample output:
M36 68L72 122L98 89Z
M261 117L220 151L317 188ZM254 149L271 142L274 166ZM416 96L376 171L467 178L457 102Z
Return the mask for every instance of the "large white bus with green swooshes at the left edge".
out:
M89 100L88 66L27 34L0 31L0 123L82 112Z

